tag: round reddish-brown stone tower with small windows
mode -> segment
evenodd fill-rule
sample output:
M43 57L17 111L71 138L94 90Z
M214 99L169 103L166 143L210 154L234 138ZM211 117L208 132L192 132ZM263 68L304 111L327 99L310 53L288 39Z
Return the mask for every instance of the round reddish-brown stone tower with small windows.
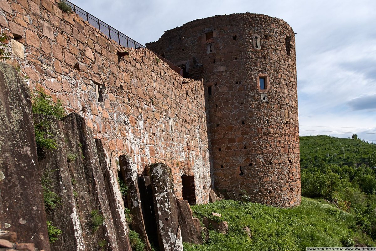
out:
M212 178L254 202L300 204L295 36L283 20L232 14L191 21L147 47L205 82Z

